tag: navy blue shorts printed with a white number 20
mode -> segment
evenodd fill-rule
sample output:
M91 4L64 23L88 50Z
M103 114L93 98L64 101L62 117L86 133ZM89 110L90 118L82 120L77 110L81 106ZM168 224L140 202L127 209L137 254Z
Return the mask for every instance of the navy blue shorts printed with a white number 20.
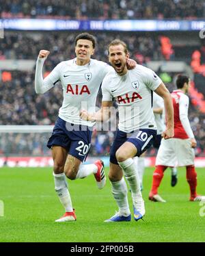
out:
M92 136L90 129L92 127L73 125L58 117L47 146L49 149L52 146L62 146L69 155L73 155L83 162L90 150Z

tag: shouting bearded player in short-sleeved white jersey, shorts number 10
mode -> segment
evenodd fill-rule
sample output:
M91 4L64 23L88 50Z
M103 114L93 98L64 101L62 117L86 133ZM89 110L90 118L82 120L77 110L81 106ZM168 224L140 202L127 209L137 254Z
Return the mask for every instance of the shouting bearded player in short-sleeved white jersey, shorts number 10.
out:
M81 112L81 117L85 120L105 120L109 118L109 107L112 106L113 99L118 105L119 125L110 152L109 179L119 211L105 222L131 220L124 177L131 188L134 219L139 220L145 215L137 166L133 157L146 151L156 136L152 111L153 90L165 101L167 127L163 137L168 139L174 136L173 106L169 91L149 68L137 64L133 70L128 71L128 57L124 42L113 40L109 44L109 62L115 70L108 73L102 81L102 107L94 114Z

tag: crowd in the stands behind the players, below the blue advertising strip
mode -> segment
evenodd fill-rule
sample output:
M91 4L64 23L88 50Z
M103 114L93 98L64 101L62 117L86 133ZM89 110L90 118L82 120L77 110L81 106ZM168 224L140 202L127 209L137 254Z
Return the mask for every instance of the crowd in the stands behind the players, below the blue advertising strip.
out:
M18 1L17 1L18 2ZM69 33L17 33L5 32L5 38L0 44L0 59L12 60L33 60L38 56L40 49L51 51L49 58L44 65L44 72L51 71L59 62L68 60L74 56L74 38L79 34L75 32ZM97 47L94 58L107 62L107 44L120 34L98 33ZM158 36L150 36L143 34L135 36L135 34L121 35L121 39L128 44L131 51L131 57L139 64L146 64L148 60L164 60L161 53L161 46ZM32 45L32 47L31 47ZM66 45L66 47L65 47ZM45 94L36 94L34 90L34 68L33 71L11 71L10 77L3 81L0 79L0 125L53 125L57 118L59 107L62 102L61 86L55 86ZM172 90L172 83L167 84L169 90ZM97 99L97 105L100 106L100 94ZM195 106L190 107L191 126L197 139L197 155L205 155L205 115L198 112ZM113 142L113 131L94 132L92 138L93 155L109 152L111 143ZM39 137L40 136L40 137ZM25 152L27 155L49 155L50 151L46 149L47 134L31 133L25 134L1 134L0 154L7 152L18 153ZM40 139L39 139L40 138ZM39 142L38 142L39 140ZM12 141L12 148L8 151L8 146ZM154 150L149 151L150 155L155 154Z

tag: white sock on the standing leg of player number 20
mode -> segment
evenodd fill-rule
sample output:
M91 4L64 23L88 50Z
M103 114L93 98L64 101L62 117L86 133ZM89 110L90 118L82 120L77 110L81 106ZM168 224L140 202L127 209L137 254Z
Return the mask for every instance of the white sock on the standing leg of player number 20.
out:
M57 192L59 201L64 206L66 212L73 212L66 175L63 172L60 174L53 173L53 176L55 182L55 191Z

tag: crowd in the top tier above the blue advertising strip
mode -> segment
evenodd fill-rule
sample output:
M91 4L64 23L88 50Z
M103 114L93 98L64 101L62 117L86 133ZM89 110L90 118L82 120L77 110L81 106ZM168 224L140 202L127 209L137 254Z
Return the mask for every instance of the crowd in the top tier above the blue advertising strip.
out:
M203 18L198 0L1 0L1 18Z

